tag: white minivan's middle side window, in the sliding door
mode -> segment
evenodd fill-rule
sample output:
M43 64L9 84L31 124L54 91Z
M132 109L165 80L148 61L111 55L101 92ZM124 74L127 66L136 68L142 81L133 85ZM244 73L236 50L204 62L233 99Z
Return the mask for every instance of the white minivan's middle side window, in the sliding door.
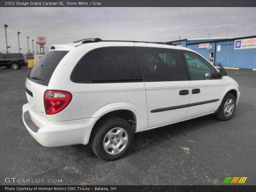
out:
M137 47L145 82L187 81L187 69L180 50Z

